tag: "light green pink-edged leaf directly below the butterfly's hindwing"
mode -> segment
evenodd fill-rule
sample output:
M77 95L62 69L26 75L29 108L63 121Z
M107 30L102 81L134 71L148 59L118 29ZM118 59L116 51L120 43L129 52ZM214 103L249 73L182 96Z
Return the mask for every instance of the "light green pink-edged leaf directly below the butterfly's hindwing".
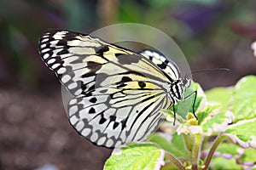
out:
M126 144L113 150L113 155L105 162L105 170L160 169L164 165L165 151L156 144Z

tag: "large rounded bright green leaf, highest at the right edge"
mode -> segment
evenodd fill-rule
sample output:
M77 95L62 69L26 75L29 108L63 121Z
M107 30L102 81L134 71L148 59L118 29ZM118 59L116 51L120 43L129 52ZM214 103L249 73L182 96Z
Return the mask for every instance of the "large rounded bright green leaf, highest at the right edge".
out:
M234 122L256 117L255 84L255 76L243 77L236 83L230 101L230 110L233 111L235 115Z

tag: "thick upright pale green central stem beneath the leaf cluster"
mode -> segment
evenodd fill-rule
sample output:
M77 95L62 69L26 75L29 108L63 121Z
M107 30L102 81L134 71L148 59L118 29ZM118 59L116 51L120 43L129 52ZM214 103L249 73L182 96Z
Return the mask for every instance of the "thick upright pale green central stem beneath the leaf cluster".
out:
M194 147L192 150L192 159L191 159L191 164L192 164L193 170L197 170L197 168L198 168L198 160L199 160L199 155L200 155L200 150L201 150L201 141L202 141L202 135L195 134L195 143L194 143Z

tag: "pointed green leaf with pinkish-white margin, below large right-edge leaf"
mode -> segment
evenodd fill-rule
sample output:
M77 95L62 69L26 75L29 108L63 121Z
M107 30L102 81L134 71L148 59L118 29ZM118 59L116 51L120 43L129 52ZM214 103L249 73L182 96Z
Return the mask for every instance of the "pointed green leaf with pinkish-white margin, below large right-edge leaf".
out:
M230 125L224 132L233 143L239 144L242 148L256 149L256 118L236 122Z

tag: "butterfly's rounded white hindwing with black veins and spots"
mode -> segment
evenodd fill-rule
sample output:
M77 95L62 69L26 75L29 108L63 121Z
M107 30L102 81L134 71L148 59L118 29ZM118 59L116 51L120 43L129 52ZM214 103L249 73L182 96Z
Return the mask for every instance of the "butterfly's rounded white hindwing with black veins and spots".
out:
M141 141L161 122L160 109L170 105L165 96L150 90L97 88L88 96L71 99L69 119L81 135L97 145L114 147Z

